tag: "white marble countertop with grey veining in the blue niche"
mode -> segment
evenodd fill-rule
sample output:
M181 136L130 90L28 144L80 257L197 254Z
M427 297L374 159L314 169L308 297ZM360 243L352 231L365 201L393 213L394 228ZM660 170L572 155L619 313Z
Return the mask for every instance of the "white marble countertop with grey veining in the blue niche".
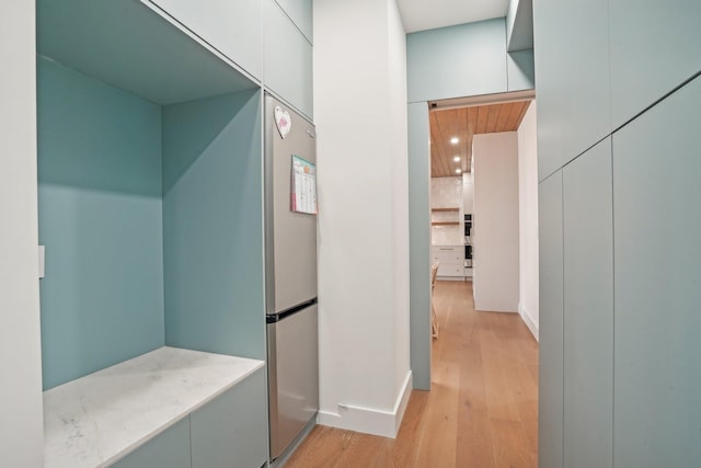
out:
M45 466L103 467L263 367L161 347L44 392Z

